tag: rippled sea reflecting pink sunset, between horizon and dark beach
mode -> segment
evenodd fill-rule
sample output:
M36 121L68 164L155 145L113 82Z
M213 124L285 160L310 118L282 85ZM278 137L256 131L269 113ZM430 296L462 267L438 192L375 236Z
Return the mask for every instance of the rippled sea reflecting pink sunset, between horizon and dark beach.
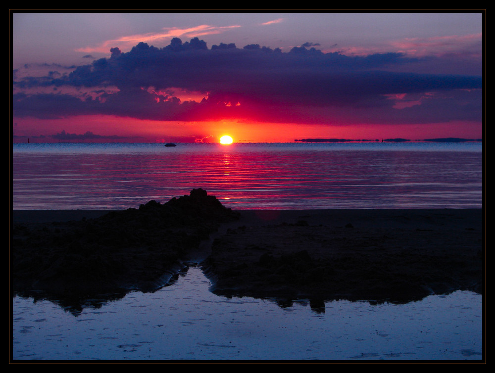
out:
M14 144L14 209L478 208L481 143Z

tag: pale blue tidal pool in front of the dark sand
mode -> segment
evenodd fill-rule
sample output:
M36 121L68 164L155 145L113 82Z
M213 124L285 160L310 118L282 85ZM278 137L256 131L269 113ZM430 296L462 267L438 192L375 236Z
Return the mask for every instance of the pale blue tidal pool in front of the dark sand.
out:
M191 267L171 286L79 315L13 299L14 360L480 360L481 295L403 305L228 299ZM285 307L284 307L285 306ZM311 307L312 306L312 307Z

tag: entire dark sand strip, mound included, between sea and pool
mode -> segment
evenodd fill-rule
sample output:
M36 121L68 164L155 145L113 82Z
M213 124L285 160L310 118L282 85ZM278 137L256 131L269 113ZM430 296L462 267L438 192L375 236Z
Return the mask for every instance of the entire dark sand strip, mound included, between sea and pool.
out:
M482 214L232 211L202 189L124 211L14 210L10 280L14 294L77 303L72 307L101 294L154 291L188 262L201 263L215 294L316 306L482 293Z

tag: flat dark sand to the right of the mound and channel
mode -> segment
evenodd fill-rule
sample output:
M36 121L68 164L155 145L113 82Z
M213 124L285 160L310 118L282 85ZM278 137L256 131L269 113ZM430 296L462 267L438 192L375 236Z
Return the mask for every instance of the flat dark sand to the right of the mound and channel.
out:
M241 215L203 262L219 295L401 303L483 291L481 209Z

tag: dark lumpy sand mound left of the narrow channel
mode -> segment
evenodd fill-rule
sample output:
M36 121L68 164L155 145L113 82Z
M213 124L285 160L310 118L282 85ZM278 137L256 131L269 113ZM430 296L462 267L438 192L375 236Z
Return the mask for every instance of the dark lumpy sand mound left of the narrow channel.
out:
M165 204L110 212L97 219L14 225L15 291L102 293L151 290L184 267L181 259L221 222L238 215L199 188Z

